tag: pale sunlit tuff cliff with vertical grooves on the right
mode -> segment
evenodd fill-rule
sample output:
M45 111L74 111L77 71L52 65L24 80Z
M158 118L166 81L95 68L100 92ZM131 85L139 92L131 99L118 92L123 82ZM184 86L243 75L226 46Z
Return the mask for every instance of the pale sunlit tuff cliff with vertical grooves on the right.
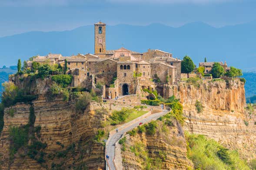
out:
M185 130L204 134L230 149L238 149L244 159L256 158L256 120L244 109L243 82L204 81L199 86L182 83L176 96L183 104ZM203 106L201 113L196 110L196 101Z

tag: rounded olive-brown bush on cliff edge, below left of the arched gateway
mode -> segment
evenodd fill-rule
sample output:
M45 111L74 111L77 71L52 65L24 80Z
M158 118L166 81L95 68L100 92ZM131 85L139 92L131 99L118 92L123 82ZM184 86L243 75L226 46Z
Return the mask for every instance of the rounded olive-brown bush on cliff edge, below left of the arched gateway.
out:
M92 101L92 96L88 92L83 92L82 96L76 101L75 108L78 112L85 111L87 105Z

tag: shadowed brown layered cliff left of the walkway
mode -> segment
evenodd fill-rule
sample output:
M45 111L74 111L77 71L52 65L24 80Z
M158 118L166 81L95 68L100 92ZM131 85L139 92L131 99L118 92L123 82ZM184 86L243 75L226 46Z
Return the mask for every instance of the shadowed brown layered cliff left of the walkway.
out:
M22 127L30 121L30 108L33 106L35 121L33 127L40 125L40 131L32 132L37 141L47 144L44 149L32 150L31 140L20 147L10 158L10 127ZM100 108L96 103L87 107L83 114L77 114L72 104L62 98L46 101L39 97L32 104L16 104L5 109L4 127L0 136L0 168L2 169L103 169L104 147L93 141L104 115L94 110ZM8 114L13 109L13 115ZM38 147L38 145L37 145ZM34 153L38 152L38 153ZM41 156L42 154L42 156ZM31 158L31 155L36 155ZM39 157L43 160L40 160ZM40 163L38 163L40 162Z

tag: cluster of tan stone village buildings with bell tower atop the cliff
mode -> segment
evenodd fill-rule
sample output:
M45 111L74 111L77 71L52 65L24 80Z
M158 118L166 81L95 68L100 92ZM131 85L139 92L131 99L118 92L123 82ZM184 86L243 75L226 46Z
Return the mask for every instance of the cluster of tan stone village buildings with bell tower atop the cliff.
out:
M181 60L174 58L170 52L160 49L148 49L147 52L134 52L125 48L106 50L106 24L94 24L94 54L77 54L62 56L49 53L47 56L35 56L27 62L60 65L64 74L73 75L73 87L94 88L102 85L103 98L116 98L122 95L140 94L141 89L156 89L164 98L173 95L173 85L178 85L182 78L201 74L181 73ZM209 73L214 62L202 62L204 72ZM227 71L226 62L220 64ZM58 73L55 73L58 74ZM202 77L201 77L202 78ZM211 78L210 76L207 78Z

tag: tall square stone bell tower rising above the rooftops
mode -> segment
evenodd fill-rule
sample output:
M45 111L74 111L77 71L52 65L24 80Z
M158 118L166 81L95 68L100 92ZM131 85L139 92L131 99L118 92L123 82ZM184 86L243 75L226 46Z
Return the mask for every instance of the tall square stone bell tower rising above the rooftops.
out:
M94 54L106 54L106 24L102 22L94 24Z

